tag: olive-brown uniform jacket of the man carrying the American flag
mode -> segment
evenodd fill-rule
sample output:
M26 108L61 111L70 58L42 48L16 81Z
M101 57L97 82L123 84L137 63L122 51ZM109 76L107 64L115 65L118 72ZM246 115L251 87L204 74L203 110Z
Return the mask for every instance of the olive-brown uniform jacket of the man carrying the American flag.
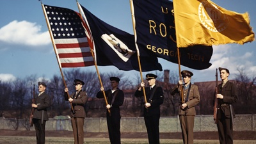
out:
M68 101L67 93L65 93L64 96L65 96L65 100ZM85 118L86 113L84 110L84 104L88 99L87 93L83 91L79 91L76 95L76 92L75 92L75 93L72 93L71 98L73 99L72 106L74 108L75 113L71 113L70 116L75 118Z

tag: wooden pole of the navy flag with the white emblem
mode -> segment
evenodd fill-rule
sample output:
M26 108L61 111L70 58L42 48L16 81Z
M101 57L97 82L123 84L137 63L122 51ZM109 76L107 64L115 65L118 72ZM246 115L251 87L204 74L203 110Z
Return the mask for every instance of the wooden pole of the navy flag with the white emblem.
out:
M78 6L78 9L79 9L79 13L80 13L80 19L82 20L82 22L83 22L83 26L84 26L84 30L86 30L88 33L86 33L86 35L90 35L90 38L92 38L92 43L90 43L89 45L90 45L90 52L91 52L91 54L92 54L92 57L93 57L93 62L94 62L94 65L95 65L95 68L96 68L96 71L97 71L97 75L98 75L98 77L99 77L99 81L100 81L100 86L101 87L103 87L103 84L102 84L102 81L101 81L101 78L100 78L100 73L99 73L99 69L98 69L98 67L97 67L97 63L96 63L96 60L95 60L95 55L94 55L94 51L93 51L93 47L94 47L94 45L93 45L93 37L92 37L92 33L91 33L91 31L89 31L89 29L88 29L88 24L86 24L86 22L84 21L84 19L83 19L83 14L81 13L81 8L80 8L80 4L78 3L78 1L76 0L76 3L77 3L77 6ZM88 40L88 36L87 36L87 40ZM88 40L89 41L89 40ZM104 88L104 87L103 87ZM104 100L105 100L105 102L106 102L106 105L108 105L108 100L107 100L107 97L106 97L106 93L105 93L105 91L103 90L102 91L103 92L103 95L104 95ZM111 111L110 111L110 109L108 109L108 113L109 113L109 115L111 114Z

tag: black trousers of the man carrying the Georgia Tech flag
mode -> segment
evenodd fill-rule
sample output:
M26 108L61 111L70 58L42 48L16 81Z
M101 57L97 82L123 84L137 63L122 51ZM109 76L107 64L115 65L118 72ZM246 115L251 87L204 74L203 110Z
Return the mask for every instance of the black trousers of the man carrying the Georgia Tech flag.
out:
M159 144L159 118L160 115L144 116L148 132L149 144Z

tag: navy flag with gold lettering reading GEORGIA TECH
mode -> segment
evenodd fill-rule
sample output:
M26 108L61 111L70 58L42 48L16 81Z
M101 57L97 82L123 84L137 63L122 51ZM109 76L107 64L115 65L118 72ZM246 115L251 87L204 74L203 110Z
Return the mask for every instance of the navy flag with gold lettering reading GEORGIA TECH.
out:
M173 3L168 0L133 0L138 47L164 60L178 63ZM193 69L211 66L212 47L179 49L180 65Z

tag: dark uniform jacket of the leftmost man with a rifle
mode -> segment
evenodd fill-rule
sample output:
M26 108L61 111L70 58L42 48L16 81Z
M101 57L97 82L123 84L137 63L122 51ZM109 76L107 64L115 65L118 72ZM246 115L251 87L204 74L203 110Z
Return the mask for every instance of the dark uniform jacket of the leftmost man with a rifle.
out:
M47 108L50 106L50 102L51 100L47 93L44 92L40 96L37 95L35 97L35 104L37 105L37 108L35 108L33 118L49 120L47 115Z

